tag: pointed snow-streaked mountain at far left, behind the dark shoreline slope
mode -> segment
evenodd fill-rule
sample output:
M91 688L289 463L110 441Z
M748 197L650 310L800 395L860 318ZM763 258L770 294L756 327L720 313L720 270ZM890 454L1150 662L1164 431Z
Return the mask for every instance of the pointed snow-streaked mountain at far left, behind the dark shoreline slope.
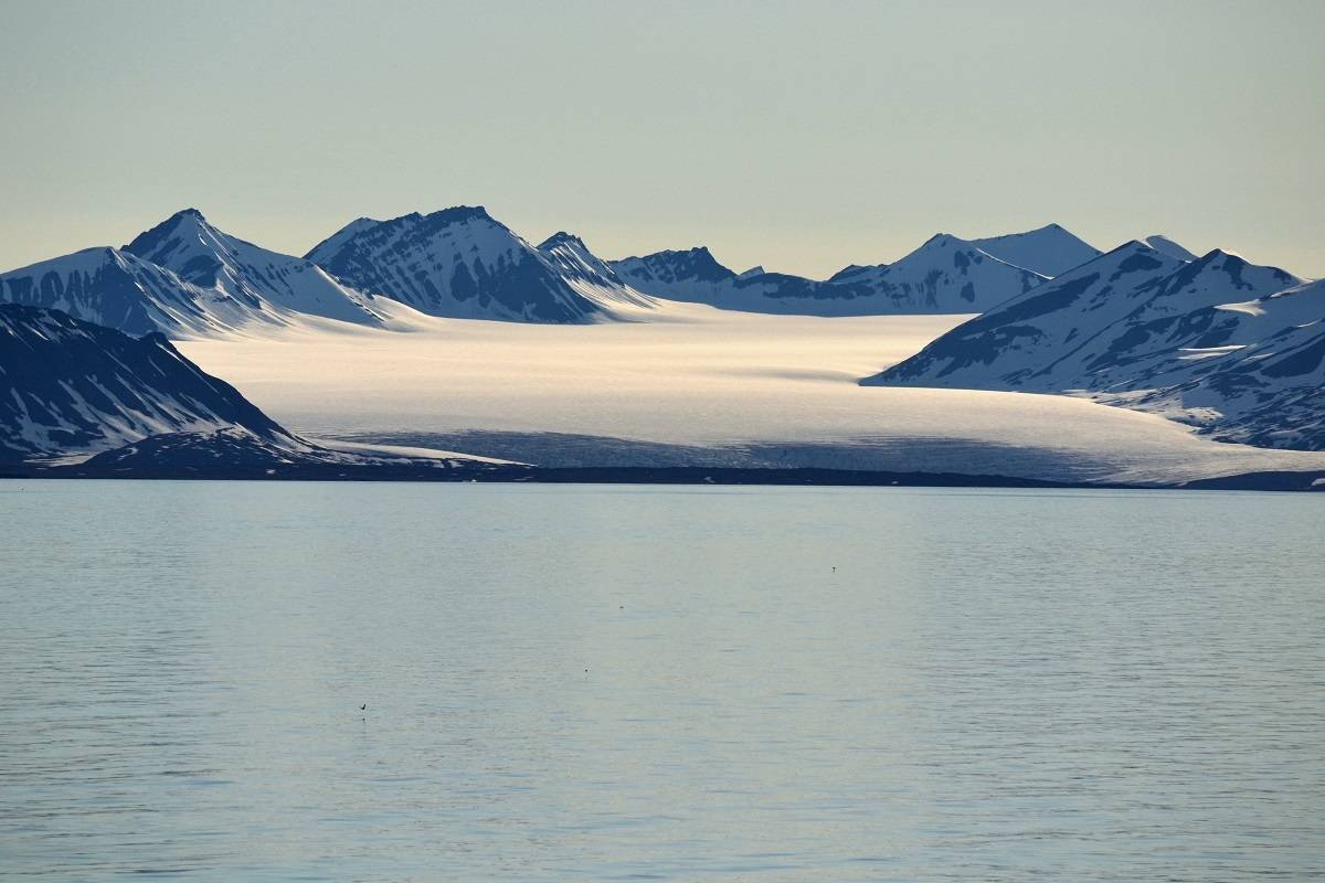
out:
M0 302L172 338L276 327L301 315L382 322L368 298L313 263L229 237L195 209L122 249L85 249L0 274Z

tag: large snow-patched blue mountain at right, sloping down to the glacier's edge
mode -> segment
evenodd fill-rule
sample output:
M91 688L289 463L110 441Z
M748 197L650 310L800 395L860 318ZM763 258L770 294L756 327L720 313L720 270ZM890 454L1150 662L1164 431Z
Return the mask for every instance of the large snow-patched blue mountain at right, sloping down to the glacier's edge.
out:
M1175 253L1128 242L861 383L1085 392L1219 438L1325 446L1320 283Z

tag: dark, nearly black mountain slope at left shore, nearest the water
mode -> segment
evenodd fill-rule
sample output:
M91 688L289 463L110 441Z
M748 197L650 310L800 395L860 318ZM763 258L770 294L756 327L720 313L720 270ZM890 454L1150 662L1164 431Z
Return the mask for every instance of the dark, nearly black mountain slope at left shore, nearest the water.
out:
M294 440L160 334L0 304L0 458L91 453L175 432Z

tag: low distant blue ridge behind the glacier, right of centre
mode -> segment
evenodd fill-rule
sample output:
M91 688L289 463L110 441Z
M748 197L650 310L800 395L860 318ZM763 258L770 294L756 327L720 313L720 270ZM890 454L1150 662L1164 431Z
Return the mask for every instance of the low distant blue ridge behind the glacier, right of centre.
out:
M980 312L1100 252L1056 224L987 240L941 233L893 263L852 265L827 282L755 267L737 274L705 248L612 261L632 286L726 310L803 315Z

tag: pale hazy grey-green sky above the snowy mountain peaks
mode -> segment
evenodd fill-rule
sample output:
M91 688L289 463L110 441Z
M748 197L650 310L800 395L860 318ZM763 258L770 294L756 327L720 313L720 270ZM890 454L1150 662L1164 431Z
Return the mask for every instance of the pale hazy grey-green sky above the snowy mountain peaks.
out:
M484 205L825 277L937 232L1325 277L1325 3L0 0L0 269Z

